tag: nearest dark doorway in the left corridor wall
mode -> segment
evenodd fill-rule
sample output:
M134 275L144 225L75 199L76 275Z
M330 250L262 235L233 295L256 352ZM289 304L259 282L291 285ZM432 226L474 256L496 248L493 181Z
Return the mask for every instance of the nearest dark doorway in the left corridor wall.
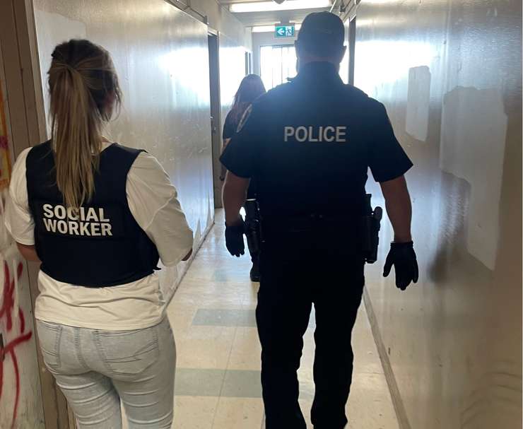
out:
M208 64L209 64L209 94L211 95L211 143L213 152L213 190L214 208L220 208L221 189L220 180L222 149L221 141L221 109L220 109L220 57L218 34L208 33Z

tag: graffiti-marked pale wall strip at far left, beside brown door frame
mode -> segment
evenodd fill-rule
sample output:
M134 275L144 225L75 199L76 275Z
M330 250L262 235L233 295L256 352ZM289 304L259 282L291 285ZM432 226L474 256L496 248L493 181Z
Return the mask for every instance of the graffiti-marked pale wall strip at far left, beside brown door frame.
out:
M28 269L4 226L13 150L0 49L0 428L45 427Z

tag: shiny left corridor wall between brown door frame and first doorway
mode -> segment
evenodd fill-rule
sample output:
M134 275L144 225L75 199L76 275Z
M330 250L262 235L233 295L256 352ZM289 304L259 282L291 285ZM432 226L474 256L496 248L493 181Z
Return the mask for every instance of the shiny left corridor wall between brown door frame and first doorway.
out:
M207 26L163 0L35 0L34 8L45 97L57 43L86 37L108 49L124 94L108 137L158 158L199 245L214 211ZM167 298L186 267L161 271Z

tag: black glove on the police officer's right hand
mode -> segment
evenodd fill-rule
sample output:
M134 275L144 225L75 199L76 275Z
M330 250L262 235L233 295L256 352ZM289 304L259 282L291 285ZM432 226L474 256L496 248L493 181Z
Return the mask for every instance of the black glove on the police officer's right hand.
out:
M405 290L411 281L418 281L418 261L414 252L413 242L390 244L389 254L383 267L383 276L387 277L394 265L396 271L396 286Z

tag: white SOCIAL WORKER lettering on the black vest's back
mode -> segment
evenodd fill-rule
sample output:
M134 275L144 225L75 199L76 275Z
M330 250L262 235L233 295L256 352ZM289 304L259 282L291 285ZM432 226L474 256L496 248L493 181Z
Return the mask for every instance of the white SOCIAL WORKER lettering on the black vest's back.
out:
M105 237L112 235L111 220L105 217L103 208L44 204L44 225L48 233L80 235L84 237Z

